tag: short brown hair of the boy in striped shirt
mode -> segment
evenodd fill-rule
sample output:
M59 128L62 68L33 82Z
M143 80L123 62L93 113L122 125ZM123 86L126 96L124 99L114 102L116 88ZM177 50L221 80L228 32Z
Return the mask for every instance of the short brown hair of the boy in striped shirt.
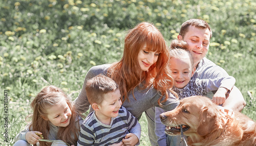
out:
M118 84L110 77L99 74L86 83L86 94L89 103L101 104L104 94L114 92L119 89Z

